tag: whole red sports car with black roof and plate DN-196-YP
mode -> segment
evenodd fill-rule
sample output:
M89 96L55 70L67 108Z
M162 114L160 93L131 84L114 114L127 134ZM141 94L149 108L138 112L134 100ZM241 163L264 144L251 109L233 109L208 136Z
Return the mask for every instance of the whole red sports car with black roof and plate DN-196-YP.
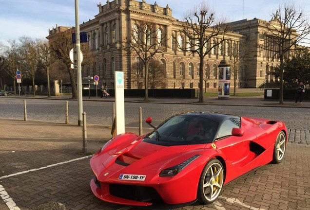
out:
M146 122L154 127L152 118ZM101 200L122 205L209 204L223 185L281 162L286 145L286 126L279 121L182 113L145 136L125 133L109 140L90 160L90 185Z

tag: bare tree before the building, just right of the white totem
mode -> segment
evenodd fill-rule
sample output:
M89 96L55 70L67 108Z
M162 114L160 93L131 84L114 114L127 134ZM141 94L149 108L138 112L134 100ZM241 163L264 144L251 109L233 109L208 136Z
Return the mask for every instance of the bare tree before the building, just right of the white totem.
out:
M131 34L125 39L123 49L127 56L135 54L144 65L144 100L148 101L148 76L149 61L157 54L165 52L162 46L167 41L166 35L160 27L151 21L136 20L131 29Z

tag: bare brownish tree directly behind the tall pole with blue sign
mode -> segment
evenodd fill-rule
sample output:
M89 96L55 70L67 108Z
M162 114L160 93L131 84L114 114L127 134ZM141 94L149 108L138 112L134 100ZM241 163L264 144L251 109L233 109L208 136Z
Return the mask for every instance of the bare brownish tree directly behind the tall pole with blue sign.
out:
M73 30L67 30L61 33L58 33L50 40L50 47L53 54L56 58L61 61L66 67L72 88L72 98L77 98L77 86L76 86L76 69L71 69L71 60L69 53L74 45L72 43L72 33ZM91 56L86 43L82 43L81 51L83 53L83 64L91 63Z

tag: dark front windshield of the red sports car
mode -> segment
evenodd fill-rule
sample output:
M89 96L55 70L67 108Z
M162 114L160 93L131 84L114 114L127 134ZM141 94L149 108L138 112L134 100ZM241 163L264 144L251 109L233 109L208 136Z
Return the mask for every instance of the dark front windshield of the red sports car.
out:
M197 116L178 115L159 125L157 131L146 139L164 141L170 144L199 144L212 142L217 130L217 123Z

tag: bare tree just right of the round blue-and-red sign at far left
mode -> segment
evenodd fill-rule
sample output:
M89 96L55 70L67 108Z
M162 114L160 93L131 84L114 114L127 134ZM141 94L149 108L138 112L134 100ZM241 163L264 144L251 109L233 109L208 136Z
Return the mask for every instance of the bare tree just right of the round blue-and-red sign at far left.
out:
M29 37L19 38L20 45L20 63L22 69L31 76L33 94L36 96L35 77L39 67L38 43Z

